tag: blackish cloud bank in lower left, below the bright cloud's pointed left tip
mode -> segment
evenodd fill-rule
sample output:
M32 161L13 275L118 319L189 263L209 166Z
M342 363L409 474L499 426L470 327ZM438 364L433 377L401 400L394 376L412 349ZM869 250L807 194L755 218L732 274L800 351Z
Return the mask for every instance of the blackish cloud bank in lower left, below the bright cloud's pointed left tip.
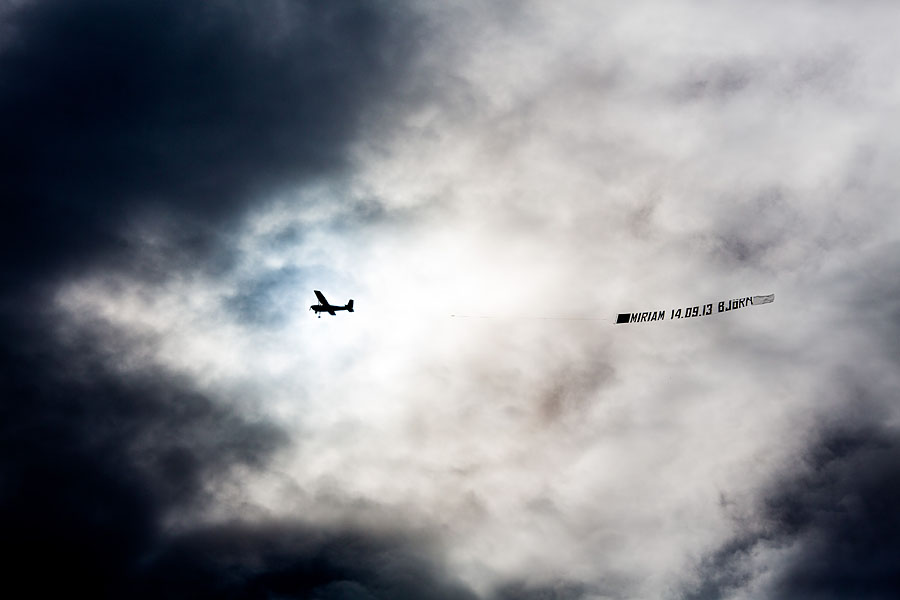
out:
M421 536L299 520L166 527L286 432L156 369L110 370L113 340L12 331L0 356L5 585L99 598L471 600ZM99 349L99 350L98 350Z

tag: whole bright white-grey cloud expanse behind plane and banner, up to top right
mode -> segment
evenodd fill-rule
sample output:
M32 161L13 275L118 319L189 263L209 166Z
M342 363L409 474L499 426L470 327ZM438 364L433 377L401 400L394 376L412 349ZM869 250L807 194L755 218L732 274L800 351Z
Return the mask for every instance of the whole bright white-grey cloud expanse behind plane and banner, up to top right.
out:
M707 4L435 13L344 171L266 188L206 262L172 251L191 221L147 209L135 264L60 284L61 344L94 334L122 380L288 432L167 517L410 527L485 597L683 596L756 536L734 589L765 597L793 551L773 478L828 426L896 425L896 41L877 3ZM316 318L313 289L356 312Z

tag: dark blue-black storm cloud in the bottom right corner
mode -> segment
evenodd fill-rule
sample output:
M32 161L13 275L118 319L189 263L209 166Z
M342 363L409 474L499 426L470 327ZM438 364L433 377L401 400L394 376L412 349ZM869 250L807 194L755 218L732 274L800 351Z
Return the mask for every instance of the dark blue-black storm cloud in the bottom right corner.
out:
M768 510L803 546L776 580L782 598L889 598L900 589L900 432L838 431Z

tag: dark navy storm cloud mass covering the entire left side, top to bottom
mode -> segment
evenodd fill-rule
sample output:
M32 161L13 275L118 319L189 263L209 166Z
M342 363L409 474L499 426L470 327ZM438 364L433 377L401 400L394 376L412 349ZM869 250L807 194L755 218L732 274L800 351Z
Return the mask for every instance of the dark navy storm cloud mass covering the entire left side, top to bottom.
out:
M30 2L3 19L6 585L40 596L471 598L414 538L185 525L236 468L264 469L286 433L187 378L122 367L122 344L153 340L100 324L62 339L49 296L34 293L98 265L144 281L195 268L225 251L229 226L259 197L346 166L414 55L414 19L368 2L158 0ZM145 219L162 224L149 253L126 233ZM234 308L253 311L275 288L251 282Z

